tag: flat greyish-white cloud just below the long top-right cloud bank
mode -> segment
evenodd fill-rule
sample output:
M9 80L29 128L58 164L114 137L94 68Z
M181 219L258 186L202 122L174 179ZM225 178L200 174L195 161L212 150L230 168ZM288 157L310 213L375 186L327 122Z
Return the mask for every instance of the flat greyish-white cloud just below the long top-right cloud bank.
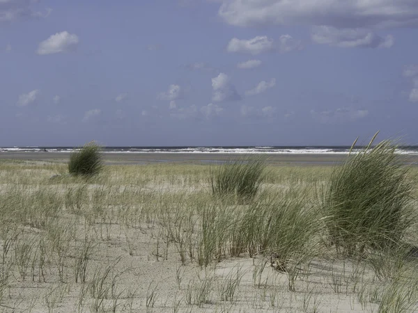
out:
M336 29L331 26L314 27L311 38L318 44L340 48L390 48L394 45L394 37L385 38L367 29Z

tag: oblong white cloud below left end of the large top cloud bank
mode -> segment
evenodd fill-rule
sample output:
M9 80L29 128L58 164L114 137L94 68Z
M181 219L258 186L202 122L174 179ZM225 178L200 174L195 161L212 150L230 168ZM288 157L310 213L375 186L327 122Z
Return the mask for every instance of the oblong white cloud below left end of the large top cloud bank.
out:
M267 36L256 36L249 40L232 38L226 47L226 51L228 52L239 52L253 55L272 51L272 49L273 40Z

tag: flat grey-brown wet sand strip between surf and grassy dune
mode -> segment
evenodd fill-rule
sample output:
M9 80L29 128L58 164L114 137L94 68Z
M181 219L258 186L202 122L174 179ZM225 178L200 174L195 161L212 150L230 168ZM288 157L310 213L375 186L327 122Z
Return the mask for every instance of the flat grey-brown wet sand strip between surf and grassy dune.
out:
M217 163L238 159L242 154L174 154L174 153L104 153L106 164L147 164L147 163ZM332 166L346 159L346 154L268 154L272 165ZM66 152L0 152L0 160L31 160L63 163L70 159ZM405 163L417 165L418 156L405 156Z

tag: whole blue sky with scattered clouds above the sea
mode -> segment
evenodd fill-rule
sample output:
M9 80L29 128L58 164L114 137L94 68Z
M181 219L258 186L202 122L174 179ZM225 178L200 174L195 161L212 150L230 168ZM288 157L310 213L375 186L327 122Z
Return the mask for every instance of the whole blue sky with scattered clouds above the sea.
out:
M0 0L0 146L418 145L417 0Z

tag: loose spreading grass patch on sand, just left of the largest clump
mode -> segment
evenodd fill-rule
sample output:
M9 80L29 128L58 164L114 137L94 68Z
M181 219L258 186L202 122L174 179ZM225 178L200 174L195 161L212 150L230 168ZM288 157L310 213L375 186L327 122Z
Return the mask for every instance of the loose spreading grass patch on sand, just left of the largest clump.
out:
M203 206L199 265L247 254L267 257L286 272L307 262L316 253L323 223L306 194L305 189L291 188L276 195L263 192L245 206L223 201Z

